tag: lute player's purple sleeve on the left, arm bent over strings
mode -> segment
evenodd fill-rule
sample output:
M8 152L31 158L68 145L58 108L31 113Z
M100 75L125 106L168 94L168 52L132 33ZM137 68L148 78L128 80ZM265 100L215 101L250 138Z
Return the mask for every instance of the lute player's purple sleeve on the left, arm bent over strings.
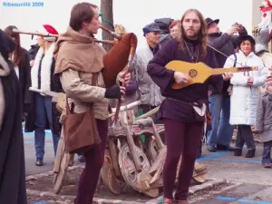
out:
M174 71L166 69L165 65L173 60L175 49L178 49L177 42L170 40L161 46L147 67L147 73L162 91L165 91L174 82Z

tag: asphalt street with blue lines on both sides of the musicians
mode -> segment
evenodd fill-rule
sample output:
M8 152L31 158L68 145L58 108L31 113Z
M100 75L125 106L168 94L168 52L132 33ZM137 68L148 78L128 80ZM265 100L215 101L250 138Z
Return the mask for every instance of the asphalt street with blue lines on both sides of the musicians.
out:
M50 131L45 136L44 166L35 166L34 133L24 133L26 175L53 170L53 141ZM257 144L256 157L234 157L233 152L209 153L203 146L201 163L209 164L208 179L226 179L229 185L219 190L210 190L190 200L192 204L272 204L272 169L261 166L262 145ZM77 162L77 157L75 157Z

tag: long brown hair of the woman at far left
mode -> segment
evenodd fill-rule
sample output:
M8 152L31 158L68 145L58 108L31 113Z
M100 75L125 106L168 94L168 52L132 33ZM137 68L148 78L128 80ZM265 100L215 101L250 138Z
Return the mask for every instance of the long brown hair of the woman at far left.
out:
M15 38L15 58L13 62L15 65L20 66L22 62L22 47L20 42L20 34L16 34L13 32L14 29L17 29L15 25L9 25L5 28L5 33L8 34L10 37Z

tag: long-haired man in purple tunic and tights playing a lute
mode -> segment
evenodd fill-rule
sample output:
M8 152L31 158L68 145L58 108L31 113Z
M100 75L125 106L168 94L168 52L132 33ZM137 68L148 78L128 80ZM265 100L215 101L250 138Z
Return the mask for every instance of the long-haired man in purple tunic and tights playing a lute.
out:
M188 83L189 75L166 69L166 64L173 60L187 63L202 62L212 68L219 65L214 51L207 46L207 28L203 15L196 9L189 9L182 16L180 40L171 39L164 44L147 68L151 79L160 87L161 94L165 97L159 111L164 122L167 145L163 167L163 203L174 203L176 199L179 204L188 204L189 184L206 117L205 111L199 112L199 109L205 110L207 107L209 85L221 90L222 84L219 82L222 76L211 76L205 83L195 83L174 90L171 85ZM173 198L181 153L178 188Z

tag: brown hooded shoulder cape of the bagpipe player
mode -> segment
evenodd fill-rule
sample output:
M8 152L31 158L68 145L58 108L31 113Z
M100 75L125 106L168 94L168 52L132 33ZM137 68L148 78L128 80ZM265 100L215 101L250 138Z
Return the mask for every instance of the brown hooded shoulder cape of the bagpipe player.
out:
M75 32L70 26L56 42L54 73L63 73L73 69L84 73L97 73L103 68L103 56L106 51L91 36Z

